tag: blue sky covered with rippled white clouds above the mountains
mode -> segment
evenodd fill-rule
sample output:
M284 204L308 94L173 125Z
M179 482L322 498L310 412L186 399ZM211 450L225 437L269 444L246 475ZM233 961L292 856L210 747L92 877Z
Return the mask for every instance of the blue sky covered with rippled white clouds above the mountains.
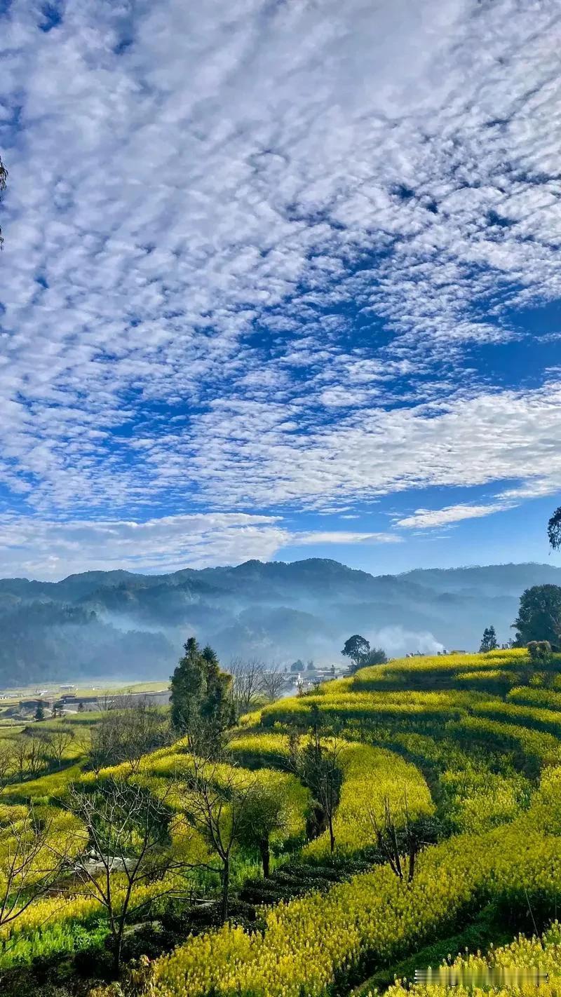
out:
M0 0L0 575L539 560L558 0Z

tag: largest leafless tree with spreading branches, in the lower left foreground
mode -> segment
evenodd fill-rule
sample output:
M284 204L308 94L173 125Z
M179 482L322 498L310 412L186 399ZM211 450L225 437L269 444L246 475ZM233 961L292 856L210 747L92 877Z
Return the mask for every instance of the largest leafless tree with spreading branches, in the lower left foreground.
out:
M171 812L165 798L115 779L98 782L93 793L71 786L67 806L84 826L76 863L90 895L108 915L117 974L125 928L146 904L135 901L135 887L149 881L161 883L161 896L170 890L164 876L175 864L169 848ZM125 892L115 890L116 871L123 874Z

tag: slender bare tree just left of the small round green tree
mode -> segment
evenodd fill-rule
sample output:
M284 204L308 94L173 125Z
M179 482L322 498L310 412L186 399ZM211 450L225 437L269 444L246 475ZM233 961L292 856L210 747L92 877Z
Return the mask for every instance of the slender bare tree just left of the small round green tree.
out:
M255 780L242 783L237 770L230 769L224 778L215 762L195 756L192 771L178 787L187 822L200 831L220 862L223 921L228 917L232 851L244 835L245 810L254 787Z

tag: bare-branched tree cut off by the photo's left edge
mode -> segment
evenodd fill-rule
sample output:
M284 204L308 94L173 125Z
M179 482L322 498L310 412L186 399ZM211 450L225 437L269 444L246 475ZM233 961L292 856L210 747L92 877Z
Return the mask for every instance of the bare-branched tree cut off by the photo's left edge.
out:
M53 821L41 821L33 808L12 824L0 848L0 925L11 924L60 878L67 853L56 850Z

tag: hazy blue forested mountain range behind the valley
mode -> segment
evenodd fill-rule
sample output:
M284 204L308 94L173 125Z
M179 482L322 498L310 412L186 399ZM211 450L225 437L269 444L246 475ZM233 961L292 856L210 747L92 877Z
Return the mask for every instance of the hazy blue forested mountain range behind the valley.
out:
M162 678L195 634L232 656L340 659L359 632L391 655L500 641L525 588L561 585L549 564L372 575L338 561L246 561L172 574L86 571L58 582L0 579L0 684L77 677Z

